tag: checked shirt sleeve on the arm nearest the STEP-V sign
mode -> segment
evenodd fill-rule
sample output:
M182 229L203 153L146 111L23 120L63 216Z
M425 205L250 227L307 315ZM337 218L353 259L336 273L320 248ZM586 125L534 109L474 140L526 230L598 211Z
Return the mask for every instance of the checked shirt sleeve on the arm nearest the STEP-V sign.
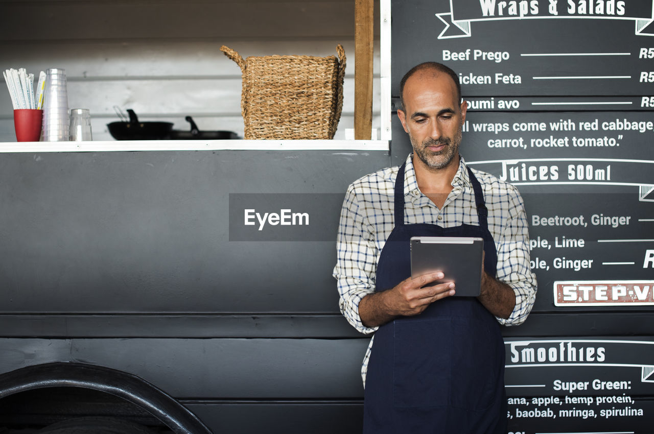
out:
M515 307L509 318L496 317L503 325L525 322L536 301L536 275L529 265L529 233L520 193L509 185L506 225L497 246L497 278L515 292Z

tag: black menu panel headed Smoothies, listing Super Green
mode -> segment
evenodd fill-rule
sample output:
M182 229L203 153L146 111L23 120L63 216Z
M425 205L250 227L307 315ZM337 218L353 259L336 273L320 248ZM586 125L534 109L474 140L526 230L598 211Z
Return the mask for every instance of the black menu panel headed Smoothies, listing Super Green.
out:
M509 431L651 432L654 341L506 339ZM536 430L537 429L537 430Z

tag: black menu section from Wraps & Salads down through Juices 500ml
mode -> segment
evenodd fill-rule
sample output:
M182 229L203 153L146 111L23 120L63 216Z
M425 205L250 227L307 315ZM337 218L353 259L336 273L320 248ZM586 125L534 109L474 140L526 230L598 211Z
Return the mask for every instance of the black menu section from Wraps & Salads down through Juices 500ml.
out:
M601 293L573 303L555 282L652 281L653 11L642 0L392 5L392 94L422 61L452 67L468 101L462 155L523 196L534 312L604 306ZM394 133L393 148L403 142ZM632 291L613 306L651 309Z

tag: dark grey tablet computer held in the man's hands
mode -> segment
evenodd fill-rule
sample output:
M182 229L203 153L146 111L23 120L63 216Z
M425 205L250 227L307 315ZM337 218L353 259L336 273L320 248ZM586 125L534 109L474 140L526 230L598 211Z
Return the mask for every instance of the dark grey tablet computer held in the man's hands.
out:
M442 271L445 277L431 285L455 282L455 296L477 297L483 249L477 237L411 237L411 277Z

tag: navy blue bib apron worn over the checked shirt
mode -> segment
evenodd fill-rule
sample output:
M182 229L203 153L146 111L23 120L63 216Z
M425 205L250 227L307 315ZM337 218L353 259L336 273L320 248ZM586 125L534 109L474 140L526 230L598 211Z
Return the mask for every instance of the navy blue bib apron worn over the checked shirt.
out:
M375 291L411 275L409 239L481 237L484 268L496 275L481 185L468 169L479 226L404 224L404 165L395 182L395 227L381 252ZM504 341L476 297L447 297L417 316L379 327L368 361L364 433L506 434Z

